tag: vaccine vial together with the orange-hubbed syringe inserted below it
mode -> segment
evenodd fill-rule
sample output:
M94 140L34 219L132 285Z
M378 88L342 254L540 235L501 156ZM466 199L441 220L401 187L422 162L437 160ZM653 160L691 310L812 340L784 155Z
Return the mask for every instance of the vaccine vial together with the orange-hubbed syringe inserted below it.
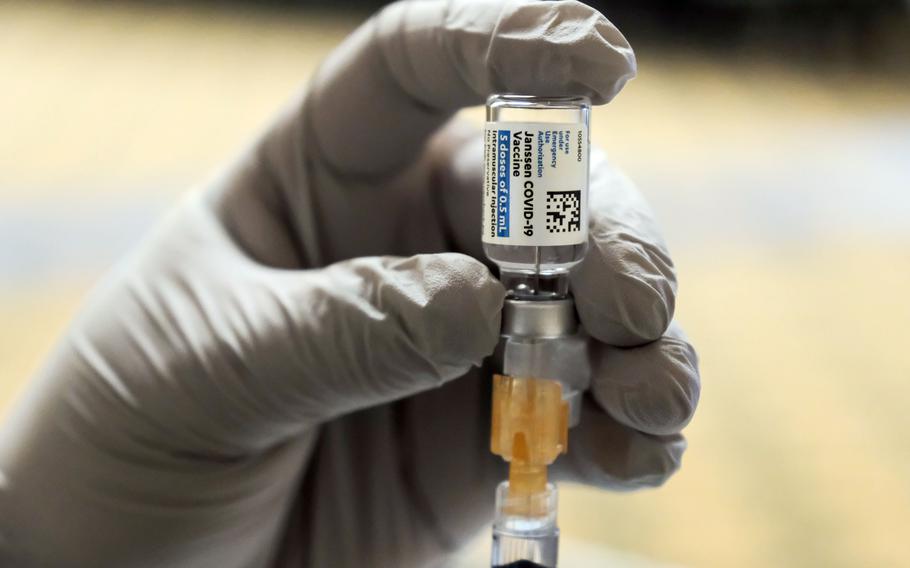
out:
M582 97L487 101L483 243L509 290L493 387L491 450L509 462L496 492L494 567L557 563L547 466L568 450L587 381L568 274L587 249L589 116Z

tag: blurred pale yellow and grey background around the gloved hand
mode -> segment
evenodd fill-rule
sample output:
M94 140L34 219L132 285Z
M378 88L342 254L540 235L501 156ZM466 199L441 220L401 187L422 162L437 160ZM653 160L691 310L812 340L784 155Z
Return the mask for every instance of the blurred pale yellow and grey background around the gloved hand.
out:
M99 275L378 5L0 3L0 416ZM640 75L593 137L665 227L704 392L665 487L563 489L562 564L910 566L908 3L599 7Z

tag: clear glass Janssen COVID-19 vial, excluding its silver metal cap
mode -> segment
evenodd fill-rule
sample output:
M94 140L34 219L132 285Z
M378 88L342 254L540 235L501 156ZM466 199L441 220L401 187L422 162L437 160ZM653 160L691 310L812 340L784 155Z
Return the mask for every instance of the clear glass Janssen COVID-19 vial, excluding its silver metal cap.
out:
M590 115L586 97L487 100L482 240L513 298L566 297L587 250Z

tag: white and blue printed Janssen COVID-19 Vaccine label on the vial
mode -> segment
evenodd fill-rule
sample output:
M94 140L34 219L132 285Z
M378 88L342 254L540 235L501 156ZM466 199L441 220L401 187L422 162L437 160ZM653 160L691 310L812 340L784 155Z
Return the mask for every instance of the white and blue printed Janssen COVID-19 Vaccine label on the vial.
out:
M588 132L583 123L488 122L483 242L575 245L588 238Z

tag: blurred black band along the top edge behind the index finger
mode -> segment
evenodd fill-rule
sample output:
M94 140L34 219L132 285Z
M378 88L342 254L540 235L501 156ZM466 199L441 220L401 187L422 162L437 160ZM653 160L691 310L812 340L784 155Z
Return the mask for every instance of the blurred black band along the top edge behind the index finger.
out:
M135 0L177 5L176 0ZM338 11L366 16L377 0L258 0L196 4L225 9ZM610 0L588 2L638 48L749 56L817 72L910 76L907 0Z

